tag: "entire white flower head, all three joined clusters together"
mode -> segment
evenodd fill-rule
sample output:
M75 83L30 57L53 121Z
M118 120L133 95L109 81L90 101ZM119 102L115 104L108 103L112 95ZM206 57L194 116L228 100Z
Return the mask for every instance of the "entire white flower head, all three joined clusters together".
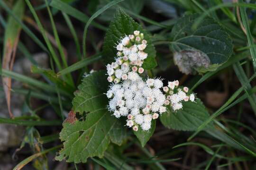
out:
M108 81L113 82L106 93L110 99L108 109L116 118L127 117L127 126L134 131L151 128L152 119L166 112L167 105L173 110L182 109L182 101L194 101L194 94L187 96L188 88L178 88L179 81L169 82L163 87L160 79L148 78L144 81L139 74L144 72L142 64L147 58L144 34L134 31L121 38L117 45L115 62L107 65ZM121 81L122 80L122 81ZM160 89L165 91L164 94Z

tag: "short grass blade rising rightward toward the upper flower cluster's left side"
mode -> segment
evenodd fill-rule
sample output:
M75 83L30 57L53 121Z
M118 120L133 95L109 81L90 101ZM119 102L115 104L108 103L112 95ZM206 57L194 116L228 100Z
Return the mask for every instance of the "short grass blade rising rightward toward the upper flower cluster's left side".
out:
M61 70L60 72L57 73L57 75L64 75L67 73L71 73L75 70L78 70L80 68L84 68L85 66L88 66L89 64L98 61L102 58L101 53L98 53L96 55L93 55L91 57L82 59L81 61L78 61L76 63L74 63L73 65L69 66L68 68L64 68L63 70Z

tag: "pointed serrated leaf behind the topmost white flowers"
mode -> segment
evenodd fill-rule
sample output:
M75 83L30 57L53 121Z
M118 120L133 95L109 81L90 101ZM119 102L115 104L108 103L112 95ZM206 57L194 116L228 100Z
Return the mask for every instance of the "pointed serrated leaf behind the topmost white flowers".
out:
M103 56L106 64L114 61L117 54L115 46L116 43L119 42L120 37L133 34L135 30L139 30L143 33L144 39L147 41L145 52L148 56L144 60L142 67L152 69L157 66L155 61L155 47L151 42L150 34L120 8L117 9L114 19L110 22L109 29L104 38Z

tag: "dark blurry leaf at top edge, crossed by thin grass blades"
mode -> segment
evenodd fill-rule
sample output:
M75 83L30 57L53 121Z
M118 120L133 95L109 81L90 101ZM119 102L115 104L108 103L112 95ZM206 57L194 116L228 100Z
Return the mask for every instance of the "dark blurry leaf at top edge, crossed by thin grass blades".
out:
M111 0L100 0L97 9L102 8L104 5L108 4ZM132 12L139 14L144 6L144 0L125 0L124 2L119 3L119 7L129 9ZM113 13L116 11L116 6L111 7L102 13L99 17L102 21L111 21L113 19Z

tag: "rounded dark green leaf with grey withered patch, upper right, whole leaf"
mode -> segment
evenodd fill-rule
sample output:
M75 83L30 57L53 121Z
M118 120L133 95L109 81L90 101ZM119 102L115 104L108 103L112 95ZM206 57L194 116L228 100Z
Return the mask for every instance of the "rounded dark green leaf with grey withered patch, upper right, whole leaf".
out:
M199 14L181 17L170 37L174 61L186 74L214 71L232 54L232 40L224 28L208 17L193 30L197 17Z

